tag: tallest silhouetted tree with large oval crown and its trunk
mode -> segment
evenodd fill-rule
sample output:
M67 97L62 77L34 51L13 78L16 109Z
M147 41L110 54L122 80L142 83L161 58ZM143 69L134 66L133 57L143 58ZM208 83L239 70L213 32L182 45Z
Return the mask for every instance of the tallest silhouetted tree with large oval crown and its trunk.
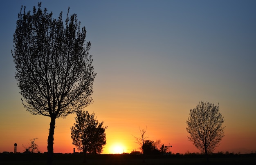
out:
M92 103L92 84L96 74L85 43L85 27L76 15L62 20L42 11L21 7L13 35L13 61L23 105L31 114L51 118L47 164L52 163L55 120L66 117ZM23 11L22 11L23 10ZM68 9L69 11L69 9Z

